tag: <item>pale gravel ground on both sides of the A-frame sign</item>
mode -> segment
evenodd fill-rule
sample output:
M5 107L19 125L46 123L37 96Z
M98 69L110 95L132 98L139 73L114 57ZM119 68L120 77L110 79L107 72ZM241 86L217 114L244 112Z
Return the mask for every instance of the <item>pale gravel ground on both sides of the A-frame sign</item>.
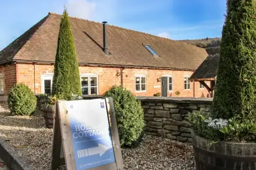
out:
M52 129L45 128L40 110L31 117L11 116L6 103L0 101L0 136L35 169L50 168ZM138 148L122 149L122 155L125 170L195 169L192 146L150 135L144 136Z

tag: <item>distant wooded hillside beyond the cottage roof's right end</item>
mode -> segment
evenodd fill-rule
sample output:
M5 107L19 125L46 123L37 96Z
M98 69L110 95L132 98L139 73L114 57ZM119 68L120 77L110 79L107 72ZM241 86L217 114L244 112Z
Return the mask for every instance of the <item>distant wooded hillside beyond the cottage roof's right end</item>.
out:
M219 47L221 38L203 38L197 40L179 40L200 48Z

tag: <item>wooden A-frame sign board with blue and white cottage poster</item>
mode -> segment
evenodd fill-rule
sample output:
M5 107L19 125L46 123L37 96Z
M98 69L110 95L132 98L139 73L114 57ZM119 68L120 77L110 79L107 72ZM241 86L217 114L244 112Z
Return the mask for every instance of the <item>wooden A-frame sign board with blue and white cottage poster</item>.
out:
M58 100L51 170L123 170L112 98Z

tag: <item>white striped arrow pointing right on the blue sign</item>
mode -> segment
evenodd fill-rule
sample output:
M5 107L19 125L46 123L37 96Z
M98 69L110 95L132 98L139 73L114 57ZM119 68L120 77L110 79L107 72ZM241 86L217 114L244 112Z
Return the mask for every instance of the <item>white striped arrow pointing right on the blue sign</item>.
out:
M97 147L78 150L77 155L78 155L78 158L91 156L91 155L97 155L97 154L100 154L100 156L101 156L109 149L110 149L110 147L98 143Z

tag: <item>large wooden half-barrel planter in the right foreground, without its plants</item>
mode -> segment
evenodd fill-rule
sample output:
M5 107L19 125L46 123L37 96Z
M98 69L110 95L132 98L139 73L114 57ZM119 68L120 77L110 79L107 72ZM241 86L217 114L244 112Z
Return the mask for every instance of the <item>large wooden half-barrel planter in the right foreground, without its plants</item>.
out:
M256 143L212 141L191 132L197 170L256 170Z

